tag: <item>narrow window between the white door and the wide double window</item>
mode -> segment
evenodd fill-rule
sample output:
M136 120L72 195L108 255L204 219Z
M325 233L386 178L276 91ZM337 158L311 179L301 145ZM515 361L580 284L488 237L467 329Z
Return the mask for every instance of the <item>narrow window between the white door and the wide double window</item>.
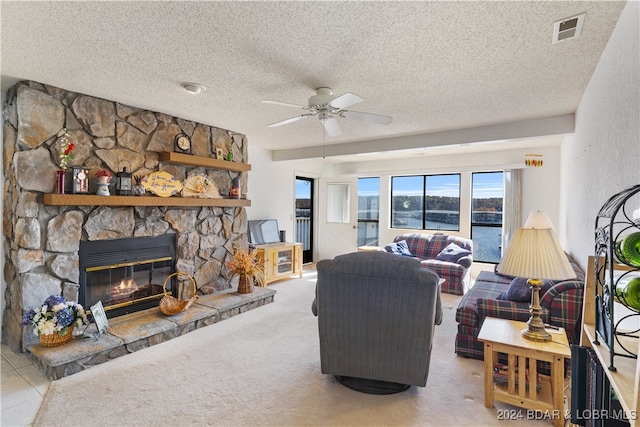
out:
M380 178L358 178L358 246L378 245Z

